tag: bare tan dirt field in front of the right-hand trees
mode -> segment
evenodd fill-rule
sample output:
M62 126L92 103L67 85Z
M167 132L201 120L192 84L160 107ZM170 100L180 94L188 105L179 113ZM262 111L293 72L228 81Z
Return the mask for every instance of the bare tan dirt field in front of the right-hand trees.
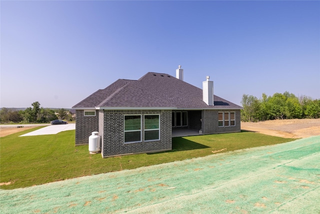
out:
M320 119L241 122L241 129L284 138L306 138L320 135Z

